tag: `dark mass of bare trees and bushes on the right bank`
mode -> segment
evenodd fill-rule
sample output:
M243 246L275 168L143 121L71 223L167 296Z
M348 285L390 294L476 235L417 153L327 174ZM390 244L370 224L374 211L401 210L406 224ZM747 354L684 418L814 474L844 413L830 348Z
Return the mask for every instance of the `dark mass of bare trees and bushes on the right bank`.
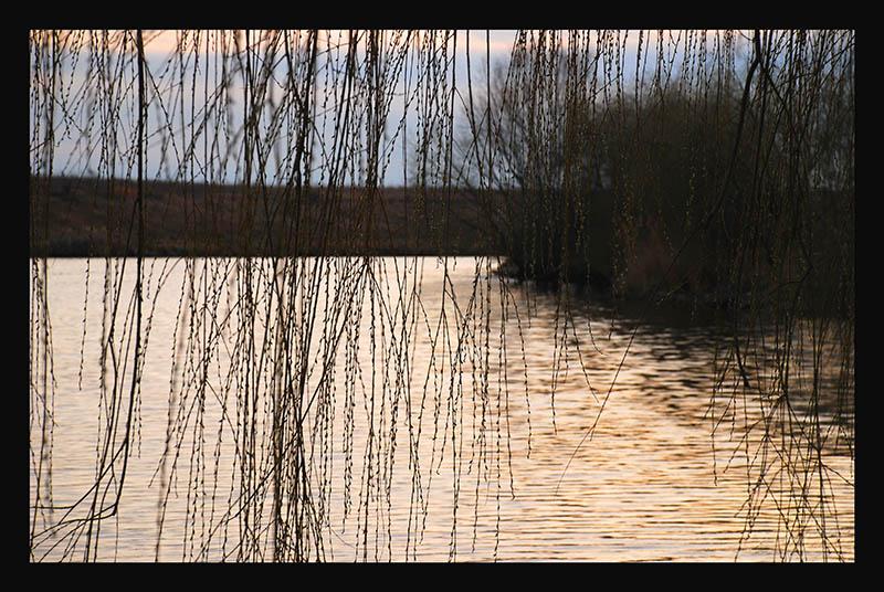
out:
M623 80L591 35L560 50L555 33L519 38L476 101L496 119L473 115L460 142L472 186L504 195L486 218L511 273L852 315L852 34L737 41L716 38L675 73L649 42L655 62Z

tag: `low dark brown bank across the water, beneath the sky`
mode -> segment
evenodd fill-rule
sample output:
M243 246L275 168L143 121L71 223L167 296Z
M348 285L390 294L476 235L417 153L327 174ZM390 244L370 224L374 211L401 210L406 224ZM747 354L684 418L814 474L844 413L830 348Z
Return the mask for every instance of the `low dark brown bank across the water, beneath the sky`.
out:
M253 199L248 199L252 195ZM31 179L32 257L138 254L137 183ZM461 189L144 183L143 255L502 255L478 199Z

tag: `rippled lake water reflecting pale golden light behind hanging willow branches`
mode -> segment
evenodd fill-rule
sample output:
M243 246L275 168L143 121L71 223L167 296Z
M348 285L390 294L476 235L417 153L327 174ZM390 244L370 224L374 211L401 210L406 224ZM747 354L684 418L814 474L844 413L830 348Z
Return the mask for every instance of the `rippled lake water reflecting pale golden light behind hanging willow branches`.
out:
M50 472L32 381L38 535L101 505L94 490L77 501L125 433L135 266L49 260L54 509L33 510ZM90 540L103 561L269 561L275 540L303 539L282 557L853 561L852 427L833 406L815 411L827 444L802 451L778 427L789 417L758 429L772 402L713 397L727 334L703 315L591 302L566 315L495 266L146 260L118 514L97 546L65 527L39 536L32 560L82 561ZM843 370L822 367L825 384ZM274 455L275 433L297 445ZM105 506L122 480L122 459L109 464ZM304 524L315 531L290 530Z

